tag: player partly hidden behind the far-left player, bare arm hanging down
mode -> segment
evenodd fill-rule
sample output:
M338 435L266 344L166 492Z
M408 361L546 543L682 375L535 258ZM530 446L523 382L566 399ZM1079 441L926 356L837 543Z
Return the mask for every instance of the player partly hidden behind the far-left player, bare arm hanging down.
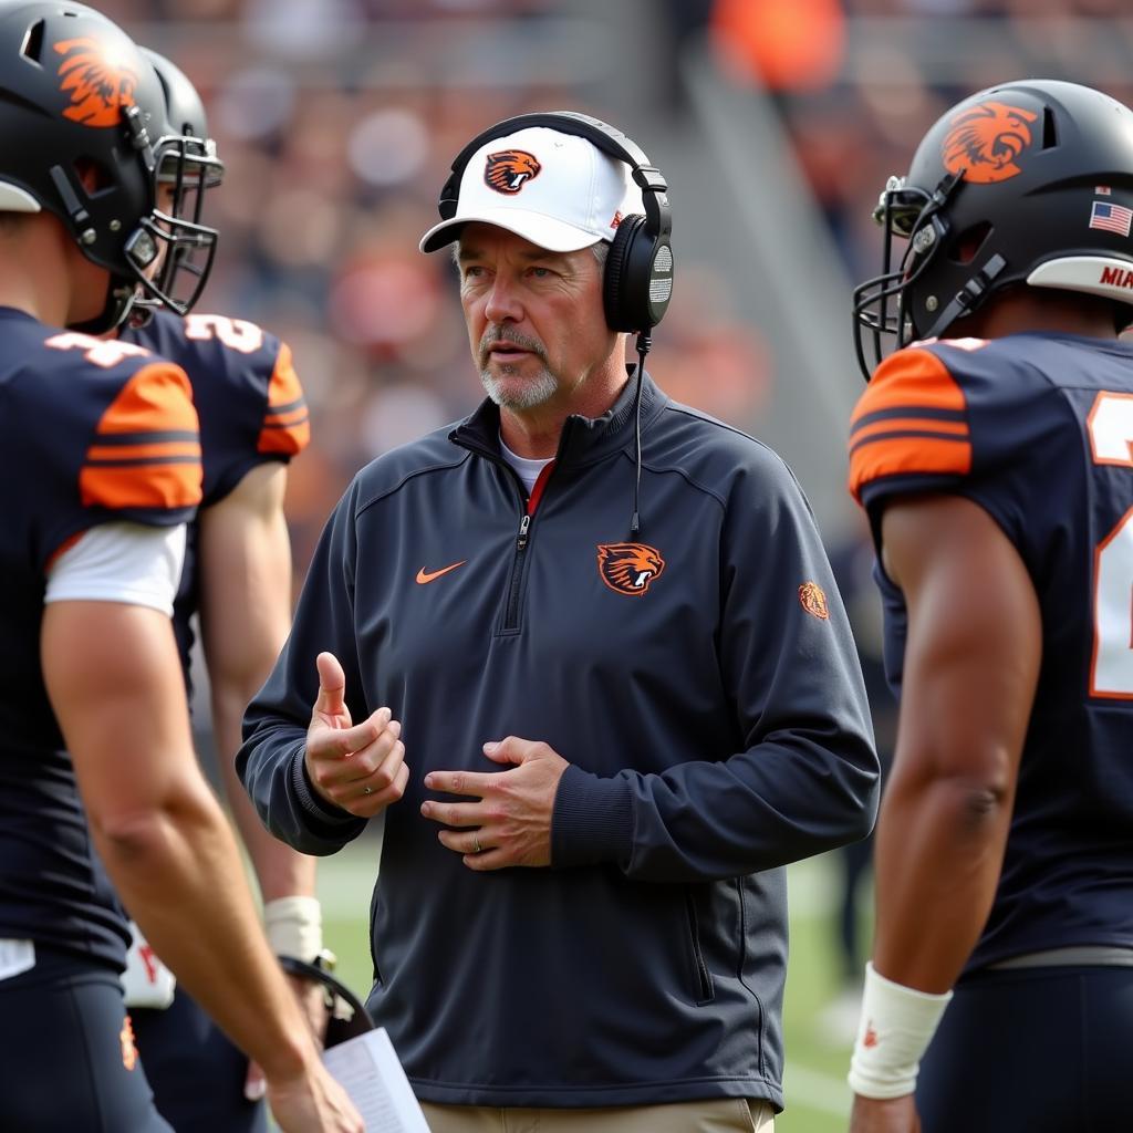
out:
M204 105L169 59L145 51L161 80L174 136L196 139L196 160L159 171L165 215L188 213L199 225L208 188L222 167ZM191 202L191 204L189 203ZM201 249L182 239L165 249L160 289L207 276ZM191 282L190 282L191 286ZM291 546L283 518L287 462L309 436L303 390L288 347L254 323L220 315L153 312L116 332L172 358L186 370L201 420L204 497L189 523L173 628L187 683L199 614L208 670L213 733L225 796L265 902L269 943L280 955L329 963L315 898L315 859L273 838L236 777L244 708L283 646L291 611ZM322 994L297 991L317 1014ZM126 974L127 1004L157 1108L178 1133L266 1130L263 1077L181 988L135 929ZM317 1017L313 1022L321 1023Z

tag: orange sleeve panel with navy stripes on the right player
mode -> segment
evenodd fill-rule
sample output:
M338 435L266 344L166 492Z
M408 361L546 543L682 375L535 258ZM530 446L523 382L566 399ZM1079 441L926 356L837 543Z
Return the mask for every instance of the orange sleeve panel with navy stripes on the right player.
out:
M960 383L928 350L901 350L878 368L851 417L849 487L902 474L964 476L972 445Z

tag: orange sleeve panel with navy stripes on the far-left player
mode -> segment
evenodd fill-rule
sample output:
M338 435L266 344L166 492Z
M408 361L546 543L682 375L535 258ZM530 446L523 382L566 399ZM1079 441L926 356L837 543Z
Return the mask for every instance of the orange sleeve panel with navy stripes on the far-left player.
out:
M201 502L193 391L171 363L137 370L103 412L79 472L87 506L177 510Z

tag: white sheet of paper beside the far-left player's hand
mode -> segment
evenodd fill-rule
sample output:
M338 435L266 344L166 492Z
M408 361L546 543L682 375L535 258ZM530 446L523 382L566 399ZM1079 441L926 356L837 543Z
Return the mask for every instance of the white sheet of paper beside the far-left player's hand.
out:
M350 1094L366 1133L429 1133L384 1026L324 1050L323 1064Z

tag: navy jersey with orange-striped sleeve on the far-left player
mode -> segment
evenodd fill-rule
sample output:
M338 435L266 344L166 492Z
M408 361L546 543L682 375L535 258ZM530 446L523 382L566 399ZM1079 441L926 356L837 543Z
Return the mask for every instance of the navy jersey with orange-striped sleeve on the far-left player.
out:
M41 674L46 573L111 520L186 522L201 499L185 374L151 351L0 308L0 937L121 965L128 930Z

